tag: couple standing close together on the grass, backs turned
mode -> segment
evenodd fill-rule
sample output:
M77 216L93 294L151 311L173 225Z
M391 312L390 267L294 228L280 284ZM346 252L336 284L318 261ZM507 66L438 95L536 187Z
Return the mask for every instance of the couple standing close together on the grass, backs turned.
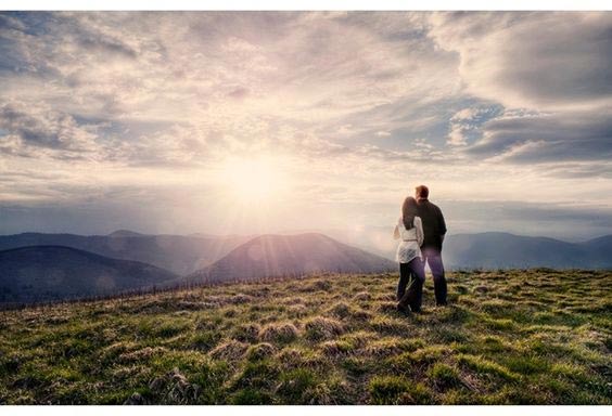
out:
M434 278L435 302L446 304L446 278L442 264L442 242L446 223L441 209L429 202L430 191L425 185L417 186L416 198L404 200L401 217L395 225L393 236L400 239L395 260L399 263L397 285L397 310L403 313L421 310L425 262Z

